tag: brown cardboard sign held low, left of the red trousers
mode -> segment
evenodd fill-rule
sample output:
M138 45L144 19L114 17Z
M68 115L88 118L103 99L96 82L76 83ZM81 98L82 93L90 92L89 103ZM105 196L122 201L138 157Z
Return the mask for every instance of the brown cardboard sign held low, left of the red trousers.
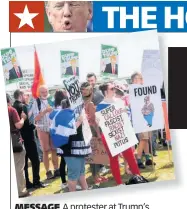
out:
M92 154L86 157L86 163L88 164L110 164L108 154L105 147L99 137L93 137L91 140Z

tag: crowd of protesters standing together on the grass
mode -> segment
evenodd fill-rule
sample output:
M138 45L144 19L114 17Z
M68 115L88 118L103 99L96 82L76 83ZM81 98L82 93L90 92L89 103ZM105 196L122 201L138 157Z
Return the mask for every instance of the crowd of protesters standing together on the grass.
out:
M131 81L133 84L143 84L142 75L134 73L131 76ZM129 119L132 120L127 85L119 82L105 82L98 86L96 75L90 73L87 75L87 81L81 83L80 88L92 135L101 138L109 157L109 168L116 185L123 184L120 166L124 165L119 163L120 157L124 159L126 174L140 175L140 169L156 165L152 161L151 155L157 156L157 139L161 139L161 130L137 134L139 144L136 147L131 147L120 155L112 157L104 134L97 123L95 113L100 110L101 104L122 103ZM163 90L161 93L162 98L165 97ZM84 141L83 115L80 115L76 120L76 134L69 136L65 145L55 147L50 136L54 113L58 109L63 110L64 113L71 113L72 110L65 90L55 92L54 107L49 105L48 96L47 86L40 86L39 98L35 100L31 98L30 94L21 90L14 92L13 99L7 94L11 140L15 140L15 136L17 136L23 145L19 151L14 150L19 197L30 195L29 190L32 188L38 189L48 186L40 181L40 162L44 164L47 180L61 177L62 189L68 188L71 192L76 189L87 190L90 188L85 177L85 157L92 153L92 149ZM31 99L33 102L30 102ZM166 145L165 141L160 143ZM52 168L49 155L51 155ZM145 157L145 163L142 161L142 156ZM28 174L29 160L32 167L32 182ZM99 186L109 180L105 175L109 171L107 166L102 164L90 164L89 166L95 185Z

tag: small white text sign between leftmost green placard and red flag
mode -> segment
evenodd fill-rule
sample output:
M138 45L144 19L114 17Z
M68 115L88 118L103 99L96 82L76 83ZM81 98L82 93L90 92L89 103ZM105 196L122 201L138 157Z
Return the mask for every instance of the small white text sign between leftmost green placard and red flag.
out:
M34 79L34 70L22 70L23 80L19 82L19 88L21 90L29 90L32 87Z

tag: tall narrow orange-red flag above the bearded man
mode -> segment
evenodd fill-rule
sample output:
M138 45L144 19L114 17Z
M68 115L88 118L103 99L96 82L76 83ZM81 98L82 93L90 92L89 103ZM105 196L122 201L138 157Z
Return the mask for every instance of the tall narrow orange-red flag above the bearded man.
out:
M35 49L34 51L34 80L33 80L33 85L32 85L32 96L36 99L39 96L39 87L41 85L44 85L45 81L42 75L39 59L38 59L38 54Z

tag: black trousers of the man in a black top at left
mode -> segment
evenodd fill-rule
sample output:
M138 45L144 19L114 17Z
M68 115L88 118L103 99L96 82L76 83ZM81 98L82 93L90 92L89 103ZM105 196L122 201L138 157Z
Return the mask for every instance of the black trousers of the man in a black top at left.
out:
M27 137L27 139L24 139ZM25 180L26 184L29 183L29 174L28 174L28 159L31 161L32 165L32 174L33 174L33 184L38 184L40 182L40 161L37 152L36 142L34 141L34 134L30 134L23 137L24 146L26 150L25 156Z

